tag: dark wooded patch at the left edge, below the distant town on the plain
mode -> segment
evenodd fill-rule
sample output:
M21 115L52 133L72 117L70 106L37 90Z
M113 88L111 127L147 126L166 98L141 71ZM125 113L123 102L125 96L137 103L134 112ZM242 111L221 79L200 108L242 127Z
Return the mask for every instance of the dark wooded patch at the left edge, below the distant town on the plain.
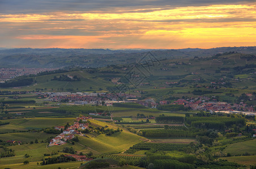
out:
M18 78L18 79L12 79L11 81L6 81L5 83L0 83L0 87L29 86L32 83L33 83L33 78Z

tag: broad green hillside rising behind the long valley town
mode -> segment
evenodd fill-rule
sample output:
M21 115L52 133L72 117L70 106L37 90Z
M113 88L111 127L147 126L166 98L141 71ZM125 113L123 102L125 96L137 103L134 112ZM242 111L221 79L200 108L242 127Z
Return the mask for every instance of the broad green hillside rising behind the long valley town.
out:
M118 92L121 89L140 91L142 98L168 100L184 94L187 97L218 95L222 100L232 101L234 98L231 96L256 90L255 65L255 55L237 52L216 54L212 57L164 60L147 56L141 64L71 69L65 73L37 75L32 77L31 86L8 90ZM76 76L80 81L52 81L54 77L62 75ZM114 78L118 78L120 84L112 82Z

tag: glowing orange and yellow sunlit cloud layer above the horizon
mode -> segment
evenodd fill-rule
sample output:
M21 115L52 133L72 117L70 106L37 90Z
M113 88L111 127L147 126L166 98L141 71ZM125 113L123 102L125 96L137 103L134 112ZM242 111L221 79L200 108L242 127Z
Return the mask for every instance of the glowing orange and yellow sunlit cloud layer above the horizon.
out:
M254 46L255 8L256 5L211 5L151 8L150 12L122 9L0 15L0 24L6 39L26 42L19 47L43 48L45 44L72 48Z

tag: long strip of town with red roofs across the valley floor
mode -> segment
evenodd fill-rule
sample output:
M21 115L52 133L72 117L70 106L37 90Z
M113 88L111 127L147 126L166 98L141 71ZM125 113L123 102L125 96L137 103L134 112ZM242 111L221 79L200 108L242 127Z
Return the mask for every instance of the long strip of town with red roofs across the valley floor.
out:
M227 103L217 101L215 97L199 96L178 99L170 103L169 100L160 100L156 103L154 99L138 100L137 96L125 93L89 93L89 92L76 92L76 94L71 94L71 92L38 92L37 95L45 98L45 101L56 101L56 102L66 102L68 104L75 105L95 105L102 104L106 106L111 106L113 103L138 103L149 108L157 108L157 105L168 105L168 104L178 104L184 105L185 108L191 110L204 110L207 112L219 112L219 111L240 111L240 112L255 112L255 109L251 105L247 105L244 102L237 103ZM120 99L122 99L120 101Z

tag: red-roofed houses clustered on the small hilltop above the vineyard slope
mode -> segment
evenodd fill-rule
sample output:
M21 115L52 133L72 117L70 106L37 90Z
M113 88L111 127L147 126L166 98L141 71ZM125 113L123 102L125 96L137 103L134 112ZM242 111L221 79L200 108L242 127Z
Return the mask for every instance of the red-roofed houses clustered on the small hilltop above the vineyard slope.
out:
M92 119L91 117L78 117L76 118L74 124L67 127L65 130L64 126L56 126L54 127L56 130L63 131L58 136L54 137L50 140L50 145L62 145L65 144L67 140L71 140L75 137L75 135L81 134L78 130L85 130L88 128L88 123L86 122L88 119Z

